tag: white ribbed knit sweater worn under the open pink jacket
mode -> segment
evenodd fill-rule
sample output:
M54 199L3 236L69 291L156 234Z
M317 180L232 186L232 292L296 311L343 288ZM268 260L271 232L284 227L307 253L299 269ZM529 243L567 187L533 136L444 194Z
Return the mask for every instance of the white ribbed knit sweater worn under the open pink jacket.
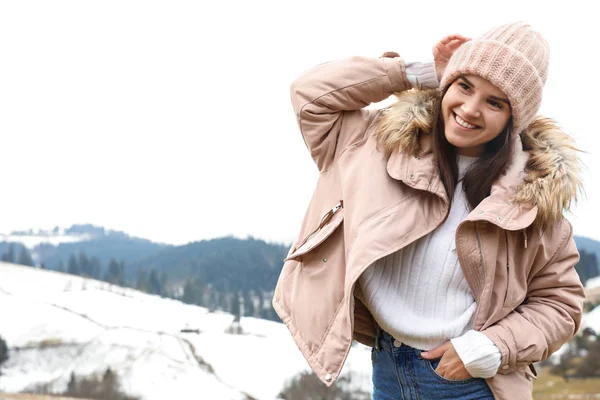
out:
M458 157L459 178L475 161ZM359 283L373 317L395 339L422 350L452 339L471 376L488 378L500 366L500 352L486 335L470 330L477 305L456 255L456 228L468 213L459 181L446 221L373 263Z

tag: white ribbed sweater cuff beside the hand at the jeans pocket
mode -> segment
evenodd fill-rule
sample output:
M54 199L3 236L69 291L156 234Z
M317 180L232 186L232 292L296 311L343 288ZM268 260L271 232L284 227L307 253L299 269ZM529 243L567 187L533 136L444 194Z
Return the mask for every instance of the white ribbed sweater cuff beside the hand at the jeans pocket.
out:
M486 335L474 330L451 340L473 378L491 378L500 367L500 350Z

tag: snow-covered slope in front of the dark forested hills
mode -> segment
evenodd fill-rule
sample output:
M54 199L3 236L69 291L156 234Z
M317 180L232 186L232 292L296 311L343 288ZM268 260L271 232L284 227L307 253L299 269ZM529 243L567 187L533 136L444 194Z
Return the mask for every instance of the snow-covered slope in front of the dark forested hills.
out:
M276 399L308 365L283 324L233 317L105 282L0 263L0 336L10 348L0 392L110 367L142 399ZM199 333L181 333L182 329ZM343 375L370 391L370 355L352 349Z

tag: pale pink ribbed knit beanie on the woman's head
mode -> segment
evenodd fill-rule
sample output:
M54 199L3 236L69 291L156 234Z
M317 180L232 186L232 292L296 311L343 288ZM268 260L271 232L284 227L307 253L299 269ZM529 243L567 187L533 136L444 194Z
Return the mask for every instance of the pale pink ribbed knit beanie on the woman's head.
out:
M460 46L450 58L440 88L447 89L461 75L487 79L508 97L513 133L519 134L540 108L548 58L548 43L529 25L503 25Z

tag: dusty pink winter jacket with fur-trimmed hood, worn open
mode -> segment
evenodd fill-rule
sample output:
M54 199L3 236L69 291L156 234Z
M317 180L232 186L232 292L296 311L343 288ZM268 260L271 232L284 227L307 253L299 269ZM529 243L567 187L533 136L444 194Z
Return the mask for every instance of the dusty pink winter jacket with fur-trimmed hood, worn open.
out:
M449 210L431 152L435 94L410 90L400 57L322 64L292 85L300 130L320 174L285 260L273 306L327 385L352 339L374 343L375 323L358 300L358 277L375 260L439 226ZM385 110L367 105L393 93ZM401 135L389 159L378 129ZM532 398L535 370L579 326L579 254L563 209L576 195L579 162L569 137L538 118L513 140L507 173L459 225L456 250L477 310L473 329L502 354L487 380L496 399ZM400 311L401 312L401 311Z

